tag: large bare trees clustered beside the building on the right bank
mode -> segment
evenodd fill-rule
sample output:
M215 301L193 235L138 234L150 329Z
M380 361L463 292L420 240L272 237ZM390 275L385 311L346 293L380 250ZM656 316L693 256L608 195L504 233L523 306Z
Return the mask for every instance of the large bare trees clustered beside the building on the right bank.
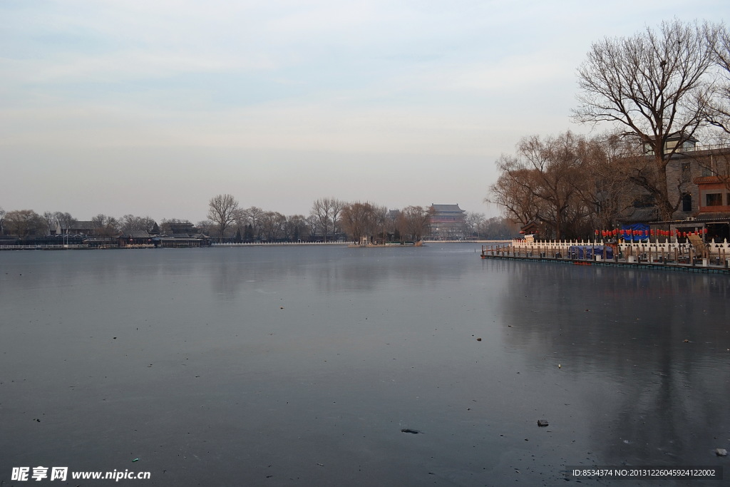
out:
M577 77L572 120L608 130L524 137L514 154L496 161L499 179L487 200L558 239L615 228L629 207L655 207L658 218L670 220L683 201L683 181L668 177L669 161L696 137L728 142L728 29L675 19L607 37L591 45ZM719 159L706 169L727 185L730 164L726 155Z

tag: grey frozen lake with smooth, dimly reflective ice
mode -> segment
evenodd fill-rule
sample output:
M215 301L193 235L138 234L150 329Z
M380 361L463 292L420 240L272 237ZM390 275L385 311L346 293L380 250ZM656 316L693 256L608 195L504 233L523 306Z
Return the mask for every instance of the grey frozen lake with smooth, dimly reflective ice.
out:
M573 465L729 478L713 453L730 450L728 277L478 248L2 252L0 480L60 483L11 480L37 466L150 472L118 483L137 486L553 486Z

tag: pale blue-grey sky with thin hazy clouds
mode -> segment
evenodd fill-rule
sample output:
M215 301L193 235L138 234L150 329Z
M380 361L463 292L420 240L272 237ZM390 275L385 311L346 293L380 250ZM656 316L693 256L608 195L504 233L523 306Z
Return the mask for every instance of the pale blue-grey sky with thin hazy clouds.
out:
M726 0L0 0L0 207L204 220L484 202L591 43ZM593 129L598 130L598 128Z

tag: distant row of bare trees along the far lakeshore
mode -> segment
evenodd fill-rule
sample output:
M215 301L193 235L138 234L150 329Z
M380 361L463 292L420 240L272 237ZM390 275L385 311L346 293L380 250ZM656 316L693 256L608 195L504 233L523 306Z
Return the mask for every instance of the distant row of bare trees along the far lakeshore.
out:
M91 221L80 221L69 212L34 210L5 211L0 208L0 235L30 239L49 235L69 236L80 225L90 226L93 234L112 239L120 234L147 231L151 234L172 234L180 226L226 242L329 242L418 241L428 237L429 208L408 206L401 210L372 202L342 202L320 198L312 203L308 215L283 215L260 207L242 208L230 194L219 194L208 202L208 218L194 224L181 218L163 218L159 224L150 216L123 215L115 218L99 214ZM467 212L464 224L455 227L446 237L453 239L509 239L515 236L515 225L506 218L485 218L483 213Z

